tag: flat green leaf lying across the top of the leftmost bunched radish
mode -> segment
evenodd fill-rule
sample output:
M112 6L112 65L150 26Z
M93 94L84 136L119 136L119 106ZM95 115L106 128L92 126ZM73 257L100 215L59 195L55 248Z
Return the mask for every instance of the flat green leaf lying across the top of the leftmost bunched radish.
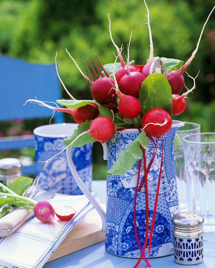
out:
M88 103L95 103L98 105L100 115L101 116L107 116L109 118L113 118L111 111L104 105L96 102L96 101L91 101L91 100L56 100L57 103L59 103L62 106L65 106L69 109L76 109L79 107L83 107L87 105Z

